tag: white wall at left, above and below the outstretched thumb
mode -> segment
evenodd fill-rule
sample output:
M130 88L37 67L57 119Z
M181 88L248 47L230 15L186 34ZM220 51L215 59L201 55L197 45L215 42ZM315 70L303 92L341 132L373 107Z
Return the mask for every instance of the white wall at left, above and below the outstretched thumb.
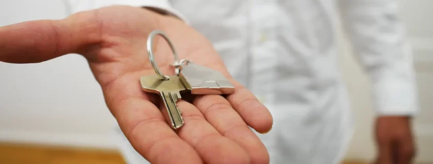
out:
M60 19L63 1L0 1L0 26ZM0 36L1 37L1 36ZM0 62L0 140L113 147L115 121L86 60L68 55L38 64Z

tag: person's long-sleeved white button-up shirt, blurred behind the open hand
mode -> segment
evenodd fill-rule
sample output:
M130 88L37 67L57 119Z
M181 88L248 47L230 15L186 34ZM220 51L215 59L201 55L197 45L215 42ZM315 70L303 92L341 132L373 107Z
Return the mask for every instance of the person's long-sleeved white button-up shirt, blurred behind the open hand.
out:
M353 118L337 63L339 14L373 84L377 114L418 111L397 0L69 2L74 12L114 4L156 7L204 34L230 73L271 110L273 130L260 135L271 163L328 164L342 158ZM134 164L142 160L128 158Z

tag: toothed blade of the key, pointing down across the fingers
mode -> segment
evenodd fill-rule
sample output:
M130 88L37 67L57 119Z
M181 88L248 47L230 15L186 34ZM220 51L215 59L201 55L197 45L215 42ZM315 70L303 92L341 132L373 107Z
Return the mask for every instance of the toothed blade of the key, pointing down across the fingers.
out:
M176 102L178 100L179 93L161 91L160 93L164 106L166 107L168 117L171 122L173 129L178 129L183 126L183 118L179 108L177 108Z

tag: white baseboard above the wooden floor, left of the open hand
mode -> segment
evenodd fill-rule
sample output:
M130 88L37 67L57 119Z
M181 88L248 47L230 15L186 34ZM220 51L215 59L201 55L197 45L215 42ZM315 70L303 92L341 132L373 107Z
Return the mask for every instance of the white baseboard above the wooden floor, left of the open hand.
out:
M13 142L38 145L67 147L90 147L98 149L117 149L111 134L76 134L37 131L12 131L0 129L0 142Z

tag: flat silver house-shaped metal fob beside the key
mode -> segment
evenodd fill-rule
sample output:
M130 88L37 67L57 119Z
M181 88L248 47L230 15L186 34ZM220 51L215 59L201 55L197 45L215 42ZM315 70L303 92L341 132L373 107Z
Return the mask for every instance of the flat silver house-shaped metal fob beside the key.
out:
M235 87L220 72L193 62L180 65L179 77L195 95L231 94Z

